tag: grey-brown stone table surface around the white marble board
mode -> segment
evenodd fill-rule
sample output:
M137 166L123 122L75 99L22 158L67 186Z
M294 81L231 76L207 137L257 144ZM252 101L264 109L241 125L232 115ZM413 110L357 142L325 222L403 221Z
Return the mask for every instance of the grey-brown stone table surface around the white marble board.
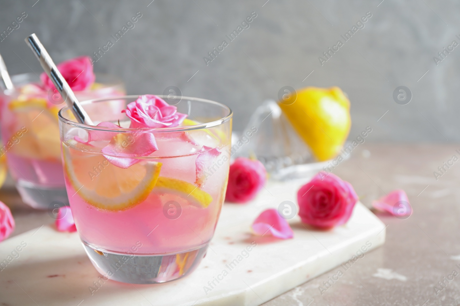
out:
M334 268L263 305L460 305L460 275L453 273L460 273L460 162L444 167L444 173L437 169L453 155L460 157L456 149L460 144L359 145L333 173L349 181L368 207L385 193L404 189L412 216L378 214L387 224L385 245L346 271ZM436 179L434 171L442 176ZM3 190L0 200L13 206L13 235L53 221L48 212L26 208L13 191ZM343 275L326 287L323 282L339 269ZM320 292L320 286L327 290Z

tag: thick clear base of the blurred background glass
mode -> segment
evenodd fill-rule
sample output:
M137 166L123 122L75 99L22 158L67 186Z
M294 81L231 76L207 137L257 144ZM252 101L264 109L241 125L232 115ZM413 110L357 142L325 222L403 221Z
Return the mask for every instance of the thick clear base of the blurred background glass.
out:
M46 210L69 206L65 186L46 187L19 179L16 183L16 188L23 202L35 209Z

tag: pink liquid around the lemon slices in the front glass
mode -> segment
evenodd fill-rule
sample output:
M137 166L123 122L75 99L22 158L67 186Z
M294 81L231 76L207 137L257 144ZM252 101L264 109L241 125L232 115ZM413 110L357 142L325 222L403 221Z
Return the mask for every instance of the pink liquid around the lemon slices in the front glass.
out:
M194 184L195 160L202 146L177 139L157 139L157 144L159 150L148 161L162 163L160 177L177 178ZM222 153L218 158L222 160L227 149L221 147ZM142 162L146 162L146 159ZM144 201L132 208L106 211L82 199L70 184L67 174L65 182L75 224L83 240L95 248L118 253L132 251L135 242L140 241L142 248L137 255L171 254L197 249L212 238L225 197L228 168L229 161L223 162L201 187L213 198L206 208L190 202L187 196L151 192ZM182 214L174 220L167 218L163 212L163 205L171 200L182 207Z

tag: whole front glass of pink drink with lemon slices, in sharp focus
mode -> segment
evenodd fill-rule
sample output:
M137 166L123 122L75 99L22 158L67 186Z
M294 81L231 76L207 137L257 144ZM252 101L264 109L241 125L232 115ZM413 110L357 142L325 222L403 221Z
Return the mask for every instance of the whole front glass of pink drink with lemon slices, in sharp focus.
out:
M110 99L81 103L88 113L106 110L104 119L90 115L98 126L75 122L67 106L59 112L65 183L86 253L104 279L133 284L181 278L198 265L214 234L230 164L227 106L146 96L142 124L132 119L141 109L114 111ZM128 109L136 99L117 98ZM156 109L152 101L160 100L167 106ZM175 124L151 128L174 116Z

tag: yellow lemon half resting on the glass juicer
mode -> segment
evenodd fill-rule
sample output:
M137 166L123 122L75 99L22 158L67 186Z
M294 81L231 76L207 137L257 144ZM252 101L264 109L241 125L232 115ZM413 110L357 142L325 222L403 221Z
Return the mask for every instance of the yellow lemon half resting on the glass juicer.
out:
M339 87L307 87L279 102L318 161L339 154L350 133L350 100Z

